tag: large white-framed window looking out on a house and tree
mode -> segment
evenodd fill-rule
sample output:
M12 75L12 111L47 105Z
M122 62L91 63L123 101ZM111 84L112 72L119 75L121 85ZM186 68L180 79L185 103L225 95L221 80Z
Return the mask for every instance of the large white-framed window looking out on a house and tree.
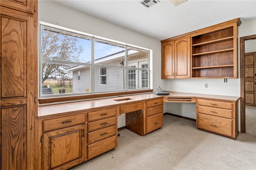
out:
M148 63L147 49L40 22L40 98L149 89Z

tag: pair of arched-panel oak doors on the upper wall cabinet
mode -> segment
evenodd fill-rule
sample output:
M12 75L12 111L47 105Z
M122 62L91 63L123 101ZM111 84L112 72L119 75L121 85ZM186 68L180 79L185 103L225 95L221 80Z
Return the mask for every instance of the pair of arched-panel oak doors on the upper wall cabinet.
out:
M190 37L162 42L162 78L190 78Z

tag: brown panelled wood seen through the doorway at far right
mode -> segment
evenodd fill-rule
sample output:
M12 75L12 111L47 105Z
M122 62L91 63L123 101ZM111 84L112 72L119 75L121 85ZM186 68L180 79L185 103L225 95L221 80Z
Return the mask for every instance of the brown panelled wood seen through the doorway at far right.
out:
M245 54L245 104L256 106L256 52Z

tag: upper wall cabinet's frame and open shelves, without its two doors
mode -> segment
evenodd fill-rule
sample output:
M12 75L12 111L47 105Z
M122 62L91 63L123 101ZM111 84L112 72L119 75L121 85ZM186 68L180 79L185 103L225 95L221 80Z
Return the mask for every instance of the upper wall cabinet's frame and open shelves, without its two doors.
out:
M178 37L191 37L191 63L183 64L183 68L191 68L191 78L237 78L238 77L238 26L239 18L226 21L217 25L206 27L197 31L186 33L167 39L171 41ZM166 72L166 49L162 42L162 78L174 78L163 76ZM175 54L172 49L168 54ZM164 72L164 73L163 73ZM184 78L184 77L176 77Z

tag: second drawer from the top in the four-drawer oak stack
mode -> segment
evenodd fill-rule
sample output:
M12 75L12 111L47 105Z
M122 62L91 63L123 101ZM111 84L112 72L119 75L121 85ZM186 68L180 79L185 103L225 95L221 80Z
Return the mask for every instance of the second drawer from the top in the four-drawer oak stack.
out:
M88 132L116 125L116 116L87 123Z

